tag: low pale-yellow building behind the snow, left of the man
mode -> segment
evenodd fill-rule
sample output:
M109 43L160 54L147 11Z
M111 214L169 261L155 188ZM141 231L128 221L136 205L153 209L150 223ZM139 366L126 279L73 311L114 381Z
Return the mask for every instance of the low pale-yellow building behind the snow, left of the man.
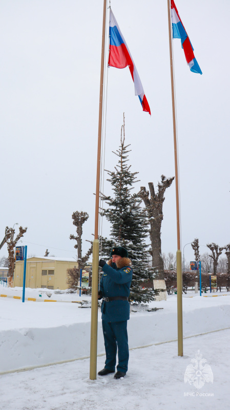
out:
M67 269L77 268L74 258L49 256L27 258L26 288L68 289ZM13 286L23 286L24 261L15 262Z

